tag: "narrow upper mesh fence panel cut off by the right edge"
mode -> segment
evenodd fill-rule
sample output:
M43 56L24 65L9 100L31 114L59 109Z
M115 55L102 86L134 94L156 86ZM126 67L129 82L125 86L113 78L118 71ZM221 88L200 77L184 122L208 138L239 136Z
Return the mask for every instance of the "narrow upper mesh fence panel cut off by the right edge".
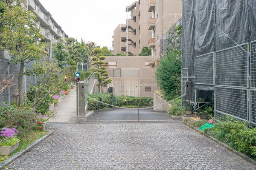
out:
M250 88L256 89L256 41L250 43Z

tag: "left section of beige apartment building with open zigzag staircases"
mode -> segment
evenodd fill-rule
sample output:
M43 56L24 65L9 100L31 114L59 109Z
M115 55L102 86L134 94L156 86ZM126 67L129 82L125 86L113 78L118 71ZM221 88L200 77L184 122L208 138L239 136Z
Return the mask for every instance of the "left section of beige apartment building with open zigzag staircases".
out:
M138 56L143 46L148 46L148 39L151 32L148 30L148 20L151 14L148 13L150 0L139 0L126 6L127 16L125 24L119 24L112 36L113 54L120 52L132 56Z

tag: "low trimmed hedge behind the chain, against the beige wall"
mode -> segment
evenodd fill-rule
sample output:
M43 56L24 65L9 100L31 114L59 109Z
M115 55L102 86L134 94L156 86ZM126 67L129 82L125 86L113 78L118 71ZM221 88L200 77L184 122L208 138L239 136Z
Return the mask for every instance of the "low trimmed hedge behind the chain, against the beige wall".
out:
M111 93L96 93L91 94L90 97L101 102L117 106L153 106L153 99L150 97L115 96ZM105 108L111 108L111 106L101 104L92 99L88 100L88 110L97 110Z

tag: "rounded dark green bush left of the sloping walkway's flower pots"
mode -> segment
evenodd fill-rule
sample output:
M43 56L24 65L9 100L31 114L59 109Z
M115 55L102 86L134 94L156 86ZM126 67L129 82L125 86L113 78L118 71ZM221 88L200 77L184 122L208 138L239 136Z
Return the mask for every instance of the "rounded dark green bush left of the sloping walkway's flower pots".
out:
M37 92L37 95L36 95ZM35 96L37 96L37 102L35 101ZM30 86L29 92L26 94L26 98L28 99L27 104L35 107L40 103L36 108L36 113L46 114L49 111L49 105L53 103L53 99L51 94L47 91L43 86Z

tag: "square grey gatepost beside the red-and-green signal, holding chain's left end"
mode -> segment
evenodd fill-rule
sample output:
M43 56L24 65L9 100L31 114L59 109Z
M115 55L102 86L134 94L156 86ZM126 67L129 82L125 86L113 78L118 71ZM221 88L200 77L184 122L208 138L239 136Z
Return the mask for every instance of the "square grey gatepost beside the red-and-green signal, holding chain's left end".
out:
M76 92L77 92L77 99L76 99L76 110L77 110L77 116L78 117L84 117L85 116L85 83L79 82L76 84Z

